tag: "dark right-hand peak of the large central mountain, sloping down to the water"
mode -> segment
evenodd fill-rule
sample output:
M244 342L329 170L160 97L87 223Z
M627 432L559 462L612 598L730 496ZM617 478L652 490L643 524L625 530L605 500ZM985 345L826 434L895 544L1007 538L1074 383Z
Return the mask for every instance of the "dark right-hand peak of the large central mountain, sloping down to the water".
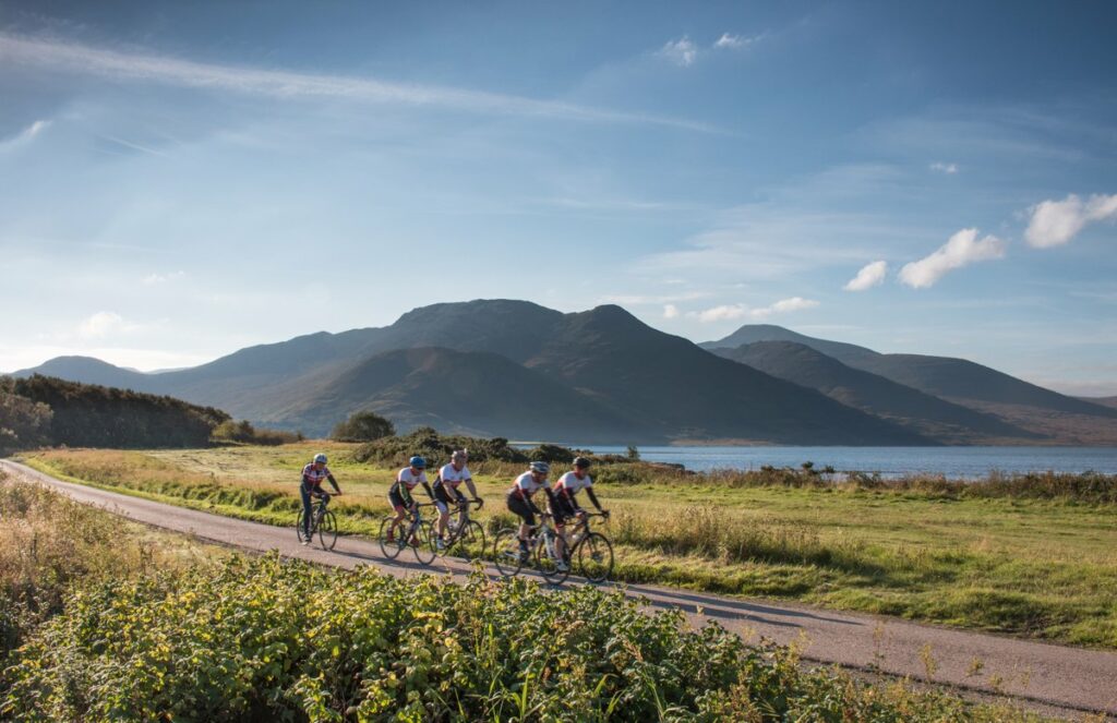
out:
M567 314L525 365L656 425L667 438L930 444L813 390L709 354L619 306Z

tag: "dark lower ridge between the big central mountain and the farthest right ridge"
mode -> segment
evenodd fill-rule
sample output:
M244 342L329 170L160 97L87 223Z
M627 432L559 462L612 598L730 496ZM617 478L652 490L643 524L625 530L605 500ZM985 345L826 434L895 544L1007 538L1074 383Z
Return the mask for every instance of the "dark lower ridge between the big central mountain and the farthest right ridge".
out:
M866 371L848 367L822 352L791 341L753 342L736 349L716 348L719 356L810 387L828 397L951 444L1005 444L1048 439L993 415Z

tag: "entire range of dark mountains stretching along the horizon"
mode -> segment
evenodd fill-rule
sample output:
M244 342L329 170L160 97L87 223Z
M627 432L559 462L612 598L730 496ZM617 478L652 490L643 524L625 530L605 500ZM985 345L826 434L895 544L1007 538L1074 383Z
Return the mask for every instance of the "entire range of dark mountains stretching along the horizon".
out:
M618 306L563 314L509 299L435 304L408 312L389 326L318 332L157 374L87 359L51 360L25 373L54 369L77 381L171 394L311 435L325 434L349 411L371 406L394 415L402 430L432 425L447 431L574 441L608 435L640 444L732 439L899 445L1051 435L1061 443L1104 444L1110 422L1117 440L1117 409L1063 397L965 360L878 354L779 326L746 326L728 341L707 346L764 336L833 356L852 368L843 374L877 374L938 397L939 402L913 397L911 391L905 391L903 400L888 400L899 393L895 388L886 392L860 387L860 396L840 392L837 382L828 397L815 391L827 387L825 380L810 383L800 374L793 383L720 359L647 326ZM423 351L390 353L403 350ZM772 361L766 369L781 367ZM461 382L470 375L476 384ZM459 388L471 391L458 393ZM1003 419L966 416L958 406ZM535 408L534 417L521 413L526 407ZM1104 422L1094 424L1099 415Z

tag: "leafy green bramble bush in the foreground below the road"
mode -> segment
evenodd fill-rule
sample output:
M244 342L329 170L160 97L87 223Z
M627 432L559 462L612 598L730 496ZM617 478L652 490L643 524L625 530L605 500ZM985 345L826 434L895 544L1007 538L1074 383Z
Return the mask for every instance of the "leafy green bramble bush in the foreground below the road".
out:
M805 670L786 648L689 629L615 592L277 556L77 592L13 660L0 712L25 721L975 717L957 698Z

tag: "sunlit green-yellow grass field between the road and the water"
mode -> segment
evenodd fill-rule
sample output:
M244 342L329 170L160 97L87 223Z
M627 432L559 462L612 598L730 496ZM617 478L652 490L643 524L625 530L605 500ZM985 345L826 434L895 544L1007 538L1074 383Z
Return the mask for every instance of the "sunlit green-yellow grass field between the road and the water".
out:
M293 524L298 470L319 449L345 491L334 506L342 529L371 534L388 511L393 470L353 462L345 445L50 450L27 459L99 486ZM504 513L513 469L474 472L487 501L481 517ZM947 487L748 486L650 474L598 489L613 512L603 531L621 580L1117 647L1117 505Z

